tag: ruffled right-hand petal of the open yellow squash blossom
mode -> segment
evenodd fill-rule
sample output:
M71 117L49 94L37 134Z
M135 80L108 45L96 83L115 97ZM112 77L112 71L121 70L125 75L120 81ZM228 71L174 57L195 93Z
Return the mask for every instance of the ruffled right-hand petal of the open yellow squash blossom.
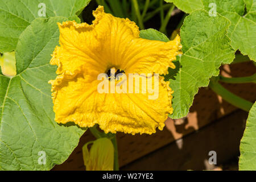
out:
M172 61L180 53L180 36L169 42L135 39L126 51L126 61L122 67L129 73L168 74L168 68L175 68Z

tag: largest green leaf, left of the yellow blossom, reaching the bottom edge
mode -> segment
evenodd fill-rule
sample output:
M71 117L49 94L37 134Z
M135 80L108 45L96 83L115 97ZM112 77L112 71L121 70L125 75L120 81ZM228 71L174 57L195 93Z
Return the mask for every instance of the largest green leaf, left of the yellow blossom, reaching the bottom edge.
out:
M51 169L68 158L84 133L76 125L54 121L48 80L55 79L56 67L49 60L59 44L57 22L65 20L35 19L19 38L18 75L0 75L0 169Z

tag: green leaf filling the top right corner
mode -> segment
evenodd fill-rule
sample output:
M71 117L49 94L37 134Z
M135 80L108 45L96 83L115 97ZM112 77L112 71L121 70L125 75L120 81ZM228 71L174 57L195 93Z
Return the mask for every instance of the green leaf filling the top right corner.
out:
M217 12L230 20L228 36L233 49L256 61L256 0L203 1L205 10L209 10L209 3L216 3Z

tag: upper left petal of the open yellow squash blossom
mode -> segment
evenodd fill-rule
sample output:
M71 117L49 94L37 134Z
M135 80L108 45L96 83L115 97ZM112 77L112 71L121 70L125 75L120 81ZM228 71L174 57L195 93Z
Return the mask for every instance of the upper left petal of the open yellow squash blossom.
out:
M67 21L58 23L60 47L56 46L50 63L57 65L57 74L68 71L75 73L82 65L92 70L105 72L107 61L98 55L101 43L97 41L94 26L102 19L102 7L94 12L96 19L92 25Z

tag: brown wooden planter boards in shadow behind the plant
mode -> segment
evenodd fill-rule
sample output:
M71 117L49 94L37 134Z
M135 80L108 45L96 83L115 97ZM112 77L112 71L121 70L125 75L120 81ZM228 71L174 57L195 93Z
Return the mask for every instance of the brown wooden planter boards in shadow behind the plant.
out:
M252 62L221 67L221 75L229 77L250 76L255 72ZM222 85L246 100L256 100L256 84ZM121 169L141 170L210 169L205 160L210 150L218 151L218 163L238 154L246 117L246 112L222 100L209 88L200 88L187 117L167 119L163 131L134 136L118 133L119 165ZM81 148L94 139L86 131L71 156L53 170L85 170Z

